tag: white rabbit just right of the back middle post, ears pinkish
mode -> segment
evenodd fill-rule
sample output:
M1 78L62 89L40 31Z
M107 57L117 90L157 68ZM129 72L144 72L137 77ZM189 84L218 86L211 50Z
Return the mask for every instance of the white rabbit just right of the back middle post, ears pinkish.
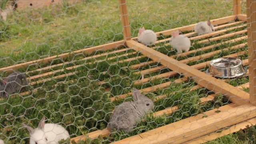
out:
M138 41L146 46L152 46L156 42L156 33L152 30L140 28L138 33Z

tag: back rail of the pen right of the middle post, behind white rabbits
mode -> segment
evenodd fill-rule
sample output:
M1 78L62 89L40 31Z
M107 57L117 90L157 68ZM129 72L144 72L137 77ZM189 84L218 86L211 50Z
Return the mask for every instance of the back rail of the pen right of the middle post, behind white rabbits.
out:
M224 17L224 18L218 18L218 19L211 20L211 23L213 25L219 25L219 24L225 24L225 23L228 23L228 22L232 22L234 20L236 20L236 16L227 16L227 17ZM159 36L160 34L163 34L164 36L171 35L172 32L174 32L176 30L179 30L180 32L191 31L191 30L194 30L195 25L196 24L191 24L191 25L188 25L188 26L182 26L182 27L179 27L179 28L164 30L162 32L156 32L156 35L157 36Z

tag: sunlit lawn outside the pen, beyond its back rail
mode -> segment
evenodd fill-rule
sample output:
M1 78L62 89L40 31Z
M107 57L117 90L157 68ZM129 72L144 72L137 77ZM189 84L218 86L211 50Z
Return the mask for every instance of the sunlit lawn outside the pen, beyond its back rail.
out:
M184 10L180 11L180 5ZM190 12L195 7L198 10ZM188 3L165 0L128 2L132 36L137 35L142 25L158 32L209 17L230 16L231 8L232 2L211 0ZM216 9L222 10L216 13ZM212 14L212 11L215 13ZM0 67L122 40L118 3L107 0L64 4L33 12L17 11L8 16L7 22L0 22L0 31L0 58L5 58Z

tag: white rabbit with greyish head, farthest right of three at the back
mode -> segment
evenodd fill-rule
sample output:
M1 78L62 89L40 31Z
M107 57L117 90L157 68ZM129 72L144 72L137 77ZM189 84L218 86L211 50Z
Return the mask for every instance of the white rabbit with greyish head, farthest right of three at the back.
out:
M197 34L208 34L214 32L214 26L211 24L210 20L207 22L199 22L194 28Z

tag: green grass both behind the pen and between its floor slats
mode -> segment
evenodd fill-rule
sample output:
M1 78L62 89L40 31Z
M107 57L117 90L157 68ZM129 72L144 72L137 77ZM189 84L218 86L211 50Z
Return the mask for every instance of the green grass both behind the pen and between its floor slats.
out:
M242 4L244 4L244 2L242 2ZM216 11L216 9L218 9L218 11ZM207 20L208 18L215 19L230 16L232 14L232 1L205 0L202 2L170 2L166 0L148 0L140 2L129 0L128 11L132 36L136 36L138 28L142 25L147 29L158 32L193 24ZM52 6L33 10L33 12L30 10L16 11L8 15L7 19L7 22L0 21L0 67L45 58L64 52L72 52L82 48L105 44L106 42L122 40L122 26L120 23L118 3L112 0L86 0L79 4L69 4L65 0L63 6ZM229 31L225 34L242 29L244 28ZM232 39L236 37L237 36L234 36ZM158 40L165 38L170 38L170 36L161 35L158 37ZM225 40L230 39L231 38L226 38ZM194 42L197 41L199 40L195 40ZM209 42L208 44L195 44L191 47L191 50L222 41L224 40ZM223 48L243 42L245 41L242 40L232 44L223 44L206 51L196 52L177 59L183 60L214 50L222 50ZM156 50L168 56L175 54L171 46L163 45L163 43L156 44L156 46L160 46L160 48ZM120 49L122 48L105 52ZM229 49L210 58L190 62L188 65L199 64L246 49L247 46L240 50ZM158 88L155 91L145 94L152 100L164 94L166 94L166 98L161 98L154 102L154 109L149 116L144 118L146 121L139 122L130 134L115 132L106 138L99 136L95 140L87 139L85 142L79 142L79 144L108 144L230 103L226 97L218 95L213 101L201 104L200 98L212 94L212 92L205 88L190 91L190 89L196 85L192 80L175 84L174 80L183 77L179 74L170 78L158 78L144 84L134 85L135 80L142 78L141 74L135 74L134 72L160 66L160 64L152 63L138 70L133 70L130 66L150 61L150 59L140 58L129 62L118 62L134 56L140 56L141 54L122 56L112 60L109 59L130 52L134 52L134 50L127 50L88 60L81 59L104 52L97 51L92 54L76 54L67 58L57 58L50 64L35 64L28 68L20 68L20 71L28 72L62 62L71 62L64 66L56 66L49 70L30 73L29 76L36 76L45 72L63 69L63 72L36 78L32 80L32 82L70 72L77 73L64 78L52 78L44 83L27 86L21 92L29 90L30 94L24 96L16 95L8 99L0 100L0 138L4 139L6 142L8 141L8 144L28 143L29 133L25 128L20 128L21 123L25 122L32 127L37 127L42 116L46 116L49 123L58 123L64 126L70 133L71 138L95 130L102 130L106 128L114 107L122 102L132 100L131 96L128 96L125 99L110 102L111 97L131 92L132 88L142 89L170 81L173 82L170 86ZM241 59L246 59L247 57L247 54L240 56ZM74 62L74 60L76 60L76 62ZM100 62L96 62L97 60ZM77 65L81 66L72 70L66 69L70 66ZM144 78L170 71L170 69L164 68L160 71L146 74ZM1 72L1 75L5 77L8 73ZM74 82L69 82L70 80L74 80ZM99 85L98 82L100 81L105 81L106 83ZM246 82L248 82L247 77L228 81L228 83L233 86ZM35 92L35 89L38 91ZM248 92L248 89L244 90ZM158 118L155 118L152 114L153 112L164 110L172 106L178 106L178 111L170 115L165 114ZM253 128L254 127L248 128L248 132L240 131L236 134L224 136L208 143L250 143L255 140L255 128ZM69 140L67 140L66 143L69 143L68 141Z

